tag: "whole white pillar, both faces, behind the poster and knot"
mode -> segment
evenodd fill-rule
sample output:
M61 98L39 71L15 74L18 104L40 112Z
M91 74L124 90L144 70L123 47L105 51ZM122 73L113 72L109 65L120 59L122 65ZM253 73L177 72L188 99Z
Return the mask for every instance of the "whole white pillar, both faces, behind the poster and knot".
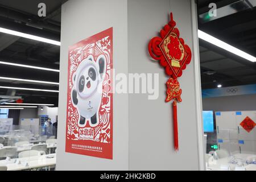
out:
M203 169L199 48L195 43L193 6L190 0L77 0L63 5L57 169ZM149 40L159 36L171 11L181 38L193 53L179 78L183 90L183 102L177 104L179 152L173 148L171 102L164 102L168 77L147 52ZM159 98L148 100L147 94L113 95L113 160L66 153L68 46L110 27L115 74L159 73Z

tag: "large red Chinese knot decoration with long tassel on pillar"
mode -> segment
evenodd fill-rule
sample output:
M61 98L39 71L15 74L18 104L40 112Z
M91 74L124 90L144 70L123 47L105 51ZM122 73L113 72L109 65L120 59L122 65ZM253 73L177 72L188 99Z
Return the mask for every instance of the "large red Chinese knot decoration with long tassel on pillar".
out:
M170 15L170 22L160 30L160 36L150 40L148 52L150 56L159 61L159 64L165 68L165 72L170 76L166 82L167 97L166 102L174 100L172 103L173 122L174 122L174 148L179 150L178 130L177 130L177 102L181 102L181 92L177 77L182 75L182 71L191 61L191 49L180 38L180 32L175 27L176 22L173 15Z

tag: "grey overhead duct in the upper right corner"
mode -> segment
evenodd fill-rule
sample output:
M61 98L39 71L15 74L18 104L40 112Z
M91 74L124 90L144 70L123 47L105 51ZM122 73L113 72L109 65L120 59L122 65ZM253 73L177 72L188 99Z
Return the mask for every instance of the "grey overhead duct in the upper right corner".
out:
M220 7L216 10L217 16L210 16L209 11L199 15L199 20L201 23L207 23L224 16L232 15L240 11L253 9L256 6L256 0L240 0L230 5ZM210 10L210 9L209 9Z

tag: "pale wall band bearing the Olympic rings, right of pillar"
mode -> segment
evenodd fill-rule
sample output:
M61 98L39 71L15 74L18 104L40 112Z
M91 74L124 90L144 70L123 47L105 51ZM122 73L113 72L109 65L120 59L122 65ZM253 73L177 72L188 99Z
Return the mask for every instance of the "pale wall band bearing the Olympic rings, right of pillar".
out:
M256 110L256 94L203 98L203 110Z

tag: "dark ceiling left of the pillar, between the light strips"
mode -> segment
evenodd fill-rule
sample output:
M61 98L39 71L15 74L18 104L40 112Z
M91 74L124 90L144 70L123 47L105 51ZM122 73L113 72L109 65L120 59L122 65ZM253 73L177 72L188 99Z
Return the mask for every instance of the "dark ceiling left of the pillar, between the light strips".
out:
M67 0L0 0L0 27L60 41L61 5ZM46 3L46 17L38 4ZM60 46L0 33L0 61L59 70ZM0 64L0 77L59 82L59 72ZM59 85L0 79L0 86L59 90ZM0 95L8 89L0 88ZM59 93L15 90L24 102L55 104Z

